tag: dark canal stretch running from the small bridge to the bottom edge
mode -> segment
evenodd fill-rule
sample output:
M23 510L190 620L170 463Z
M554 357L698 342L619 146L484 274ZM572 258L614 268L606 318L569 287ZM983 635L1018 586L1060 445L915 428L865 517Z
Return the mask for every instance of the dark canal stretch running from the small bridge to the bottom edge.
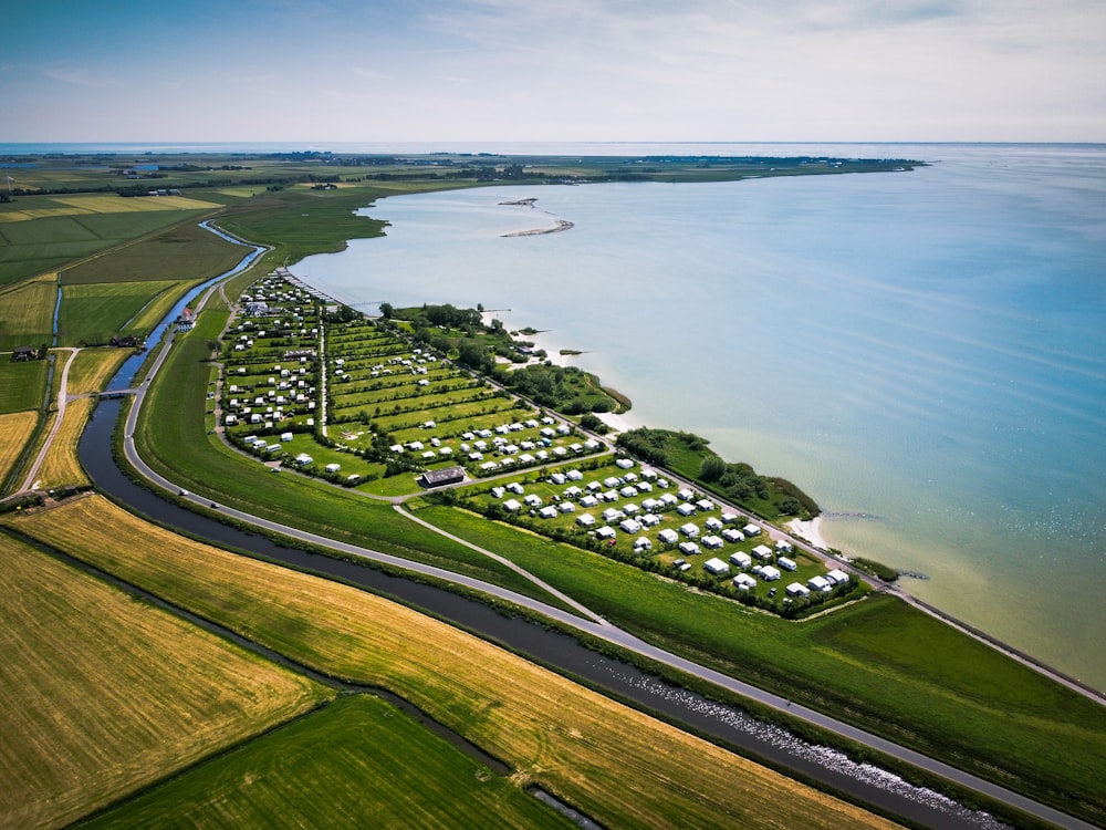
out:
M166 501L126 478L112 457L112 432L119 407L118 401L105 401L97 407L81 438L79 454L96 486L137 512L218 544L248 550L272 561L333 575L374 593L396 598L636 701L781 769L823 781L852 798L920 824L935 828L1001 827L987 813L966 810L943 796L908 785L886 770L856 764L836 750L811 745L740 709L662 683L634 666L596 654L566 634L523 619L503 616L488 605L439 588L363 564L285 548L268 538L228 527Z

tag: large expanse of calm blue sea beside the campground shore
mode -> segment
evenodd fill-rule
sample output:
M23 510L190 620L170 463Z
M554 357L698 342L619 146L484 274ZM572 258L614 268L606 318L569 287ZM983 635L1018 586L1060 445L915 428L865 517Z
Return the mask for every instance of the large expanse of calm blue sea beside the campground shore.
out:
M550 330L634 423L791 478L835 547L1106 687L1106 146L726 152L758 151L932 165L394 197L366 211L386 238L295 271Z

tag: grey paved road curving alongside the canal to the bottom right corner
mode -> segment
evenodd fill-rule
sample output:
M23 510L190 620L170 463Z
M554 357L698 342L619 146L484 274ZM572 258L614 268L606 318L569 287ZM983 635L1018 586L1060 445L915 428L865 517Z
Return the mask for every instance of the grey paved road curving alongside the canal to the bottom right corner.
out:
M161 487L163 489L169 492L181 494L182 492L181 488L179 488L170 480L159 475L156 470L150 468L142 459L134 444L134 432L137 424L138 413L142 409L142 405L145 401L146 391L149 386L149 380L153 378L156 375L156 373L160 370L163 363L165 362L166 356L169 353L169 350L173 347L173 343L175 342L175 336L176 336L175 332L166 335L161 344L161 349L158 352L158 355L154 362L154 365L152 366L150 372L147 374L146 381L135 393L136 400L134 406L131 407L131 411L127 414L127 421L125 425L124 453L126 455L127 460L146 479L148 479L149 481L156 484L157 486ZM210 504L209 498L201 498L192 494L185 495L184 498L191 500L199 506L206 507ZM1011 805L1012 807L1015 807L1026 813L1036 816L1037 818L1044 819L1046 821L1051 821L1060 827L1074 828L1078 830L1092 830L1093 828L1092 824L1081 821L1079 819L1075 819L1071 816L1067 816L1066 813L1063 813L1045 805L1041 805L1036 801L1033 801L1032 799L1029 799L1024 796L1013 792L1012 790L1009 790L1004 787L991 784L990 781L983 780L982 778L964 772L947 764L942 764L941 761L935 760L920 753L914 751L912 749L908 749L906 747L899 746L898 744L886 740L870 733L864 732L863 729L858 729L842 720L837 720L836 718L830 717L828 715L824 715L820 712L815 712L814 709L806 708L805 706L793 704L786 698L783 698L779 695L764 692L760 688L757 688L755 686L749 685L748 683L742 683L741 681L729 677L724 674L721 674L720 672L716 672L713 670L693 663L689 660L680 657L676 654L671 654L670 652L664 651L662 649L658 649L657 646L654 646L643 640L639 640L629 632L623 631L622 629L618 629L617 626L606 622L598 614L587 610L580 603L572 601L570 598L560 594L560 592L553 591L553 593L559 595L559 598L563 599L564 601L571 602L572 606L580 610L581 614L583 614L584 616L577 616L562 609L554 608L552 605L531 599L529 596L515 593L514 591L510 591L508 589L500 588L499 585L493 585L483 582L481 580L472 579L470 577L457 574L451 571L444 570L441 568L436 568L434 566L422 564L419 562L413 562L410 560L400 559L398 557L375 551L368 548L362 548L358 546L335 541L322 536L317 536L315 533L310 533L303 530L299 530L288 525L282 525L280 522L262 519L260 517L255 517L250 513L242 512L240 510L222 507L220 508L220 511L225 512L228 516L233 517L234 519L238 519L239 521L252 525L254 527L264 530L270 530L273 532L281 533L283 536L300 540L307 544L330 548L332 550L336 550L343 553L383 562L395 568L400 568L408 571L427 574L439 580L444 580L459 585L465 585L469 589L477 590L482 593L495 596L505 602L513 603L521 608L525 608L536 613L540 613L544 616L554 619L563 625L584 632L593 637L597 637L608 643L613 643L630 652L640 654L649 660L654 660L658 663L662 663L678 671L686 672L687 674L713 683L735 694L752 698L765 706L771 706L781 712L784 712L791 715L792 717L801 718L821 728L837 733L838 735L842 735L858 744L885 753L886 755L889 755L894 758L898 758L899 760L912 764L921 769L927 770L928 772L943 777L950 781L954 781L960 786L968 787L970 789L982 792L989 796L990 798ZM476 547L468 542L465 543L469 544L469 547L473 548ZM476 550L479 550L482 553L493 559L497 559L498 561L503 561L501 558L497 557L490 551L483 550L481 548L476 548ZM515 570L520 569L518 569L518 567L515 566ZM534 579L532 575L526 574L525 571L520 570L520 572L522 572L523 574L528 575L531 579ZM536 582L538 581L535 580L535 583ZM543 584L543 588L545 588L545 590L551 590L549 585Z

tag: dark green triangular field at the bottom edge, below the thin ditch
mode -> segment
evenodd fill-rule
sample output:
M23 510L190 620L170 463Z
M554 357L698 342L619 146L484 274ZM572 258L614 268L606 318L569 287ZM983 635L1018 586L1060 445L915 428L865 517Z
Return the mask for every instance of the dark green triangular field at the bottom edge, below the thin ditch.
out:
M336 701L86 824L526 827L572 822L371 695Z

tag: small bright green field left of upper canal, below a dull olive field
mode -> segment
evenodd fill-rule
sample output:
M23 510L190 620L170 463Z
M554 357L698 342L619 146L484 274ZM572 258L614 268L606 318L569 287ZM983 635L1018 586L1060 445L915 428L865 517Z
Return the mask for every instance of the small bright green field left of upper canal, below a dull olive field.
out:
M177 287L170 280L63 286L58 339L66 345L103 345L116 335L143 336L148 329L139 329L136 318Z

